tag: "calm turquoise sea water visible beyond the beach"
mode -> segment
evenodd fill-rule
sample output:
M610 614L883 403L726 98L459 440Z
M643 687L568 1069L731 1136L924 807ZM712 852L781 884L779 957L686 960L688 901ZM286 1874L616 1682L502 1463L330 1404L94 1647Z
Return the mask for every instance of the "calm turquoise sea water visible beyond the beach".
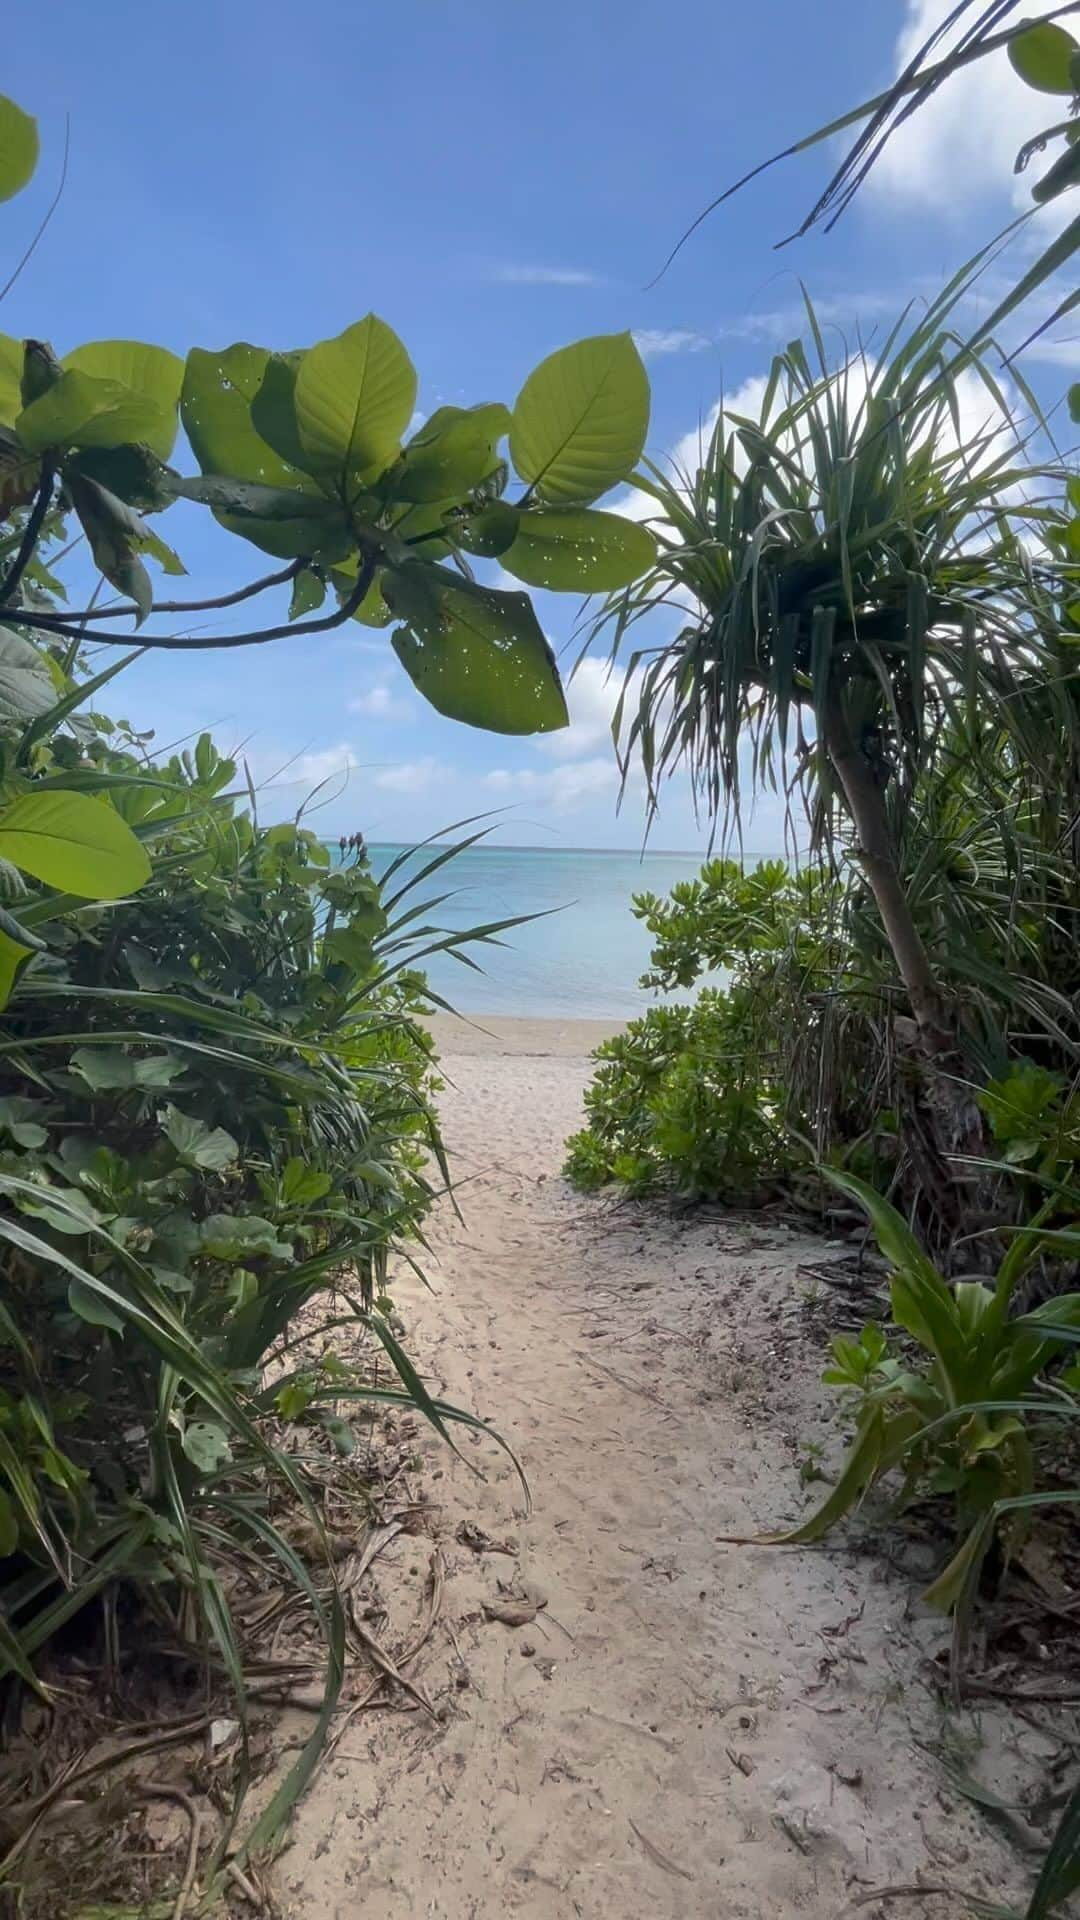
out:
M382 874L400 851L373 845L373 872ZM432 851L413 854L405 872ZM432 918L448 927L544 918L503 933L502 947L469 948L482 973L434 954L423 962L430 985L463 1014L628 1020L653 998L638 989L650 935L630 912L630 895L665 895L700 866L698 854L471 847L425 881L425 895L454 889Z

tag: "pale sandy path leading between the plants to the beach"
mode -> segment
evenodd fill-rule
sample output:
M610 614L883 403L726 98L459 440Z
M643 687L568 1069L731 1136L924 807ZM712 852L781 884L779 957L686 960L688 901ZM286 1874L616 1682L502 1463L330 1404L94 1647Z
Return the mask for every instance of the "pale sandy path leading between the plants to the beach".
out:
M354 1722L281 1862L290 1910L836 1920L967 1910L861 1903L890 1884L999 1897L1009 1860L917 1745L940 1622L849 1548L717 1540L803 1509L796 1430L836 1453L796 1277L828 1250L577 1200L557 1165L596 1033L488 1025L440 1035L465 1225L438 1221L438 1302L400 1300L446 1396L523 1453L534 1507L486 1444L482 1482L423 1444L448 1586L417 1678L442 1720ZM463 1521L515 1553L471 1551ZM429 1553L402 1536L380 1563L394 1615ZM532 1624L484 1617L500 1580L546 1601Z

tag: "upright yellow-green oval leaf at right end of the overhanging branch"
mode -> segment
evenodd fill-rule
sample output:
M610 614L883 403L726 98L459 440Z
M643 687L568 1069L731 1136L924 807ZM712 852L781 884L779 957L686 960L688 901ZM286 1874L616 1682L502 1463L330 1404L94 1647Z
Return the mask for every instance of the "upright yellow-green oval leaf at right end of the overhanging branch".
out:
M550 353L517 396L509 451L548 501L590 501L625 480L650 426L650 382L630 334Z

